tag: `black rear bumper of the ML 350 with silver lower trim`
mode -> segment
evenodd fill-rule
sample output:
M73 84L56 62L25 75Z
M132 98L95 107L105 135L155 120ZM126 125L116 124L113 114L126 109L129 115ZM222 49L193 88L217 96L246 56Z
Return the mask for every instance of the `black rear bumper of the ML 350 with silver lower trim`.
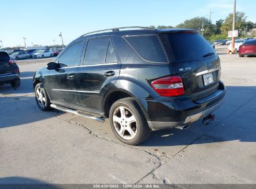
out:
M169 99L168 101L147 102L148 126L151 129L166 129L184 126L202 119L220 107L225 98L225 86L215 93L197 101L187 98Z

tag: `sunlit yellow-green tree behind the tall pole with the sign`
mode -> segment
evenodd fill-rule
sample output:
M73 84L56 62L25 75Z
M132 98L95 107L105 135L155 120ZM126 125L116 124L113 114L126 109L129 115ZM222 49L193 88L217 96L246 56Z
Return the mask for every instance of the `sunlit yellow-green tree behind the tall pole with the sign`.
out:
M244 12L236 12L235 13L235 30L244 30L246 28L246 19ZM224 23L221 25L220 30L222 34L227 34L228 31L232 30L233 25L233 14L229 14L225 18ZM239 35L241 35L239 33Z

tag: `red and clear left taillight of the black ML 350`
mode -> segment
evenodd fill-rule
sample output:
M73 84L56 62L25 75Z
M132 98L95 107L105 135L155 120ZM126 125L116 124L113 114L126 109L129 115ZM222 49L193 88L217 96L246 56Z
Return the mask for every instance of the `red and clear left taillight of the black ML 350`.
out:
M151 86L160 96L179 96L185 94L180 76L167 76L151 82Z

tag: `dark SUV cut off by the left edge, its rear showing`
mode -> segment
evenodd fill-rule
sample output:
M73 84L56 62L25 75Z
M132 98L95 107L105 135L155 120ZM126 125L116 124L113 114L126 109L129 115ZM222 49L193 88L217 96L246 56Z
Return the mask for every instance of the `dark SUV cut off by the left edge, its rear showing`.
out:
M19 67L16 60L12 60L7 52L0 52L0 85L6 83L11 84L12 87L21 85Z

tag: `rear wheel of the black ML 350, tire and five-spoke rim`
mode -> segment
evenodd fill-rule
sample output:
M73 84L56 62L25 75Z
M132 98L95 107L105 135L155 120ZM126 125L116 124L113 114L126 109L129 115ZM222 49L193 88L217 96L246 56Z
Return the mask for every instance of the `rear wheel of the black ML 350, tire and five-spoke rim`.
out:
M121 114L121 111L123 114ZM135 121L131 121L129 124L129 120ZM110 108L110 126L115 136L128 145L140 144L148 139L151 133L145 115L133 98L123 98L112 104Z

